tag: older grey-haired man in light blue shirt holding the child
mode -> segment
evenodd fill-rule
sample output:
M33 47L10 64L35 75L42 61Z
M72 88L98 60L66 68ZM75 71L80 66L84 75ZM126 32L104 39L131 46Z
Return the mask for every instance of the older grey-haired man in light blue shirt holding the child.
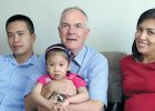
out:
M105 57L84 44L90 33L85 12L76 7L65 9L60 19L59 33L61 42L71 50L73 57L71 72L83 77L90 93L89 101L69 104L65 109L68 111L102 111L107 102L108 65ZM48 92L48 88L44 87L42 92ZM31 102L28 98L25 100L25 104ZM60 110L52 109L51 111Z

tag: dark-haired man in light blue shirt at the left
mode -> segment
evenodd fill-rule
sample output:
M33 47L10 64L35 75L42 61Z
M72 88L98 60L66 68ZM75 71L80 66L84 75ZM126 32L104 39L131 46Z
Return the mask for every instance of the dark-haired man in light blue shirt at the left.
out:
M16 14L6 30L12 54L0 57L0 111L22 111L29 78L42 71L33 54L34 27L27 16Z

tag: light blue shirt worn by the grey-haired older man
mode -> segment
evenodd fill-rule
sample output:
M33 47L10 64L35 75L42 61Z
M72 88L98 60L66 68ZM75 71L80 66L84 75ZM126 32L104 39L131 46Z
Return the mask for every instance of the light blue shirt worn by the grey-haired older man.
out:
M76 72L86 81L90 99L107 104L108 64L105 57L86 46L71 62L71 72Z

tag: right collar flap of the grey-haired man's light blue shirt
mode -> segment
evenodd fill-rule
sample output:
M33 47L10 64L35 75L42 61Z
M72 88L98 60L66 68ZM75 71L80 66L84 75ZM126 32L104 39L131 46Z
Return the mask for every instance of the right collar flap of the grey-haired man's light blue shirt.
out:
M79 64L79 65L82 65L82 62L84 60L86 56L86 46L84 46L82 48L82 50L76 54L76 57L74 58L74 61Z

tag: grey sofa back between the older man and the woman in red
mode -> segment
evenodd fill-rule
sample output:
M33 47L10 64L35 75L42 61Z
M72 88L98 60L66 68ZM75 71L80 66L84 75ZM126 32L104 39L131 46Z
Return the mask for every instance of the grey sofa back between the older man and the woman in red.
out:
M122 89L122 75L120 70L120 60L126 56L124 52L110 51L101 52L108 61L108 89L107 89L107 102L122 102L123 89Z

